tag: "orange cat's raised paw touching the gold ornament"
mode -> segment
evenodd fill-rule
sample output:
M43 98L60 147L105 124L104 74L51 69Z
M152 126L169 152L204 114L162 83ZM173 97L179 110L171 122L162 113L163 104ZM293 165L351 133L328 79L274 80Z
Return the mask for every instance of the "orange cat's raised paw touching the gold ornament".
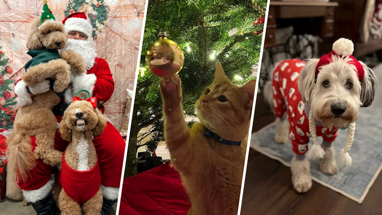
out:
M160 80L160 91L165 108L178 106L182 101L182 89L179 76L175 75L170 79Z

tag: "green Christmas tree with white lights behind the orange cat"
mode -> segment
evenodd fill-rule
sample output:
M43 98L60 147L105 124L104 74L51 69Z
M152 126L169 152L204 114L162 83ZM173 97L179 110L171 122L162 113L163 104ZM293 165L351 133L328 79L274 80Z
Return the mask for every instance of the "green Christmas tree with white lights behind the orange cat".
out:
M162 98L159 81L145 65L148 47L168 34L183 49L185 63L179 76L186 116L196 116L195 102L212 83L219 60L236 85L253 79L260 56L266 0L150 0L141 52L125 176L137 173L134 161L139 147L154 151L163 136ZM190 126L193 122L189 123ZM142 128L150 127L139 135ZM143 142L145 138L151 137Z

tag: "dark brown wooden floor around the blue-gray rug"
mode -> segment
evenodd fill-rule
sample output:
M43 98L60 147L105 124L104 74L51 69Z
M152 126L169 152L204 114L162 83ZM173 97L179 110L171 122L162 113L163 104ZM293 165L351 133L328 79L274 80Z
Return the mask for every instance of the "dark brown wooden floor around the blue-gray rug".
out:
M262 96L257 96L253 132L274 121ZM382 215L382 176L364 202L351 199L313 181L310 191L299 194L291 184L290 168L249 150L241 215Z

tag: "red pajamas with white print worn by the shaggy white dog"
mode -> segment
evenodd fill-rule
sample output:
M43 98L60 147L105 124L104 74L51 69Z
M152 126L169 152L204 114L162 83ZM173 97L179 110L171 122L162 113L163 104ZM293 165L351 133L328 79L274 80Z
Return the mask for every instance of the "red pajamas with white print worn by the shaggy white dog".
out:
M306 63L298 59L285 60L278 64L272 81L273 107L276 117L283 117L288 113L290 122L289 138L292 149L302 155L308 151L309 117L305 114L304 102L298 91L299 74ZM329 129L316 125L317 137L326 142L333 142L337 137L338 128Z

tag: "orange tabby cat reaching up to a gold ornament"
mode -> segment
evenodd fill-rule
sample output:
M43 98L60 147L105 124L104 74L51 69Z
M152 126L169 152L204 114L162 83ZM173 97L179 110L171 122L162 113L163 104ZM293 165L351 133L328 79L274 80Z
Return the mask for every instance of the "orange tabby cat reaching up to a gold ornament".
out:
M256 80L238 87L230 83L216 63L215 80L196 102L196 122L191 129L183 116L180 78L162 79L165 139L173 166L189 194L188 215L236 215ZM224 140L241 142L226 145Z

